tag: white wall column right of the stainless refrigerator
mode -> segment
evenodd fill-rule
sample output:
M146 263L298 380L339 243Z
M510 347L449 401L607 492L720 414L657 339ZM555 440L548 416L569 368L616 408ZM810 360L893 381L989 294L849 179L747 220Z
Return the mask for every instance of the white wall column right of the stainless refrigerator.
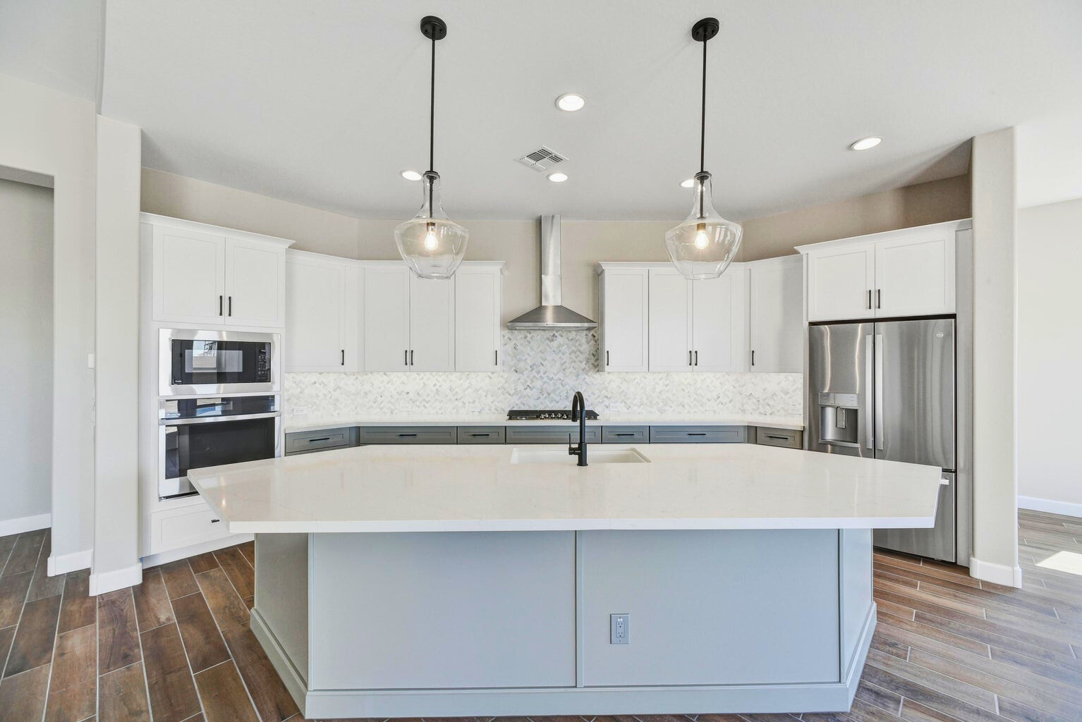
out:
M1016 431L1015 131L973 139L973 576L1021 586Z

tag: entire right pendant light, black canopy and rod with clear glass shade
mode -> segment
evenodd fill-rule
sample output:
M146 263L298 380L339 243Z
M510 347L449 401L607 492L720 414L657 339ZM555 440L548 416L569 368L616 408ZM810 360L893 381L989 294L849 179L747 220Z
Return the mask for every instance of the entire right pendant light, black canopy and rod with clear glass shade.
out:
M723 218L711 200L707 172L707 41L717 35L716 17L704 17L691 27L691 38L702 43L702 120L699 141L699 172L692 184L691 214L665 233L665 250L676 270L698 281L717 278L733 263L740 248L743 226Z

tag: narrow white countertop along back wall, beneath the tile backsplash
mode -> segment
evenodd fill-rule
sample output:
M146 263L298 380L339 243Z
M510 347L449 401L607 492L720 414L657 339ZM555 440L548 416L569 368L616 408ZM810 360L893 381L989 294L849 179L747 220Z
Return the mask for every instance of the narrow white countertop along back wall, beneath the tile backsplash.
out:
M544 418L530 422L509 422L505 414L466 416L424 416L394 414L364 418L319 418L286 416L287 432L316 431L343 426L578 426L578 422ZM768 426L776 429L804 429L804 419L795 416L712 415L712 414L602 414L586 426Z

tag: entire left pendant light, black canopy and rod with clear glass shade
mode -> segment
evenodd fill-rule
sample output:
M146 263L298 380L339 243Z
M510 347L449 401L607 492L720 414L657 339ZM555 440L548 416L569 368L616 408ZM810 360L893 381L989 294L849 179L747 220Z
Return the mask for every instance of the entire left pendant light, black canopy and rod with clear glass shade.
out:
M428 95L428 170L421 174L421 210L395 228L395 245L418 278L447 279L454 275L470 242L470 231L447 217L439 202L439 174L433 170L436 112L436 41L447 37L447 24L428 15L421 34L432 41L432 84Z

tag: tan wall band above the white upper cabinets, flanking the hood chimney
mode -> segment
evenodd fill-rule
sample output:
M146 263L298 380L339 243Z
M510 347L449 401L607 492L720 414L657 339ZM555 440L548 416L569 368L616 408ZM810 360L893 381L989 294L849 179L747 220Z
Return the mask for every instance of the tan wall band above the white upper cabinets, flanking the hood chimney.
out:
M143 210L295 241L293 248L372 260L398 257L394 228L400 219L354 218L143 169ZM739 259L793 253L801 243L860 236L969 216L967 176L933 180L847 201L744 223ZM597 318L598 260L667 260L664 233L672 223L565 220L564 305ZM470 229L470 260L507 262L503 320L537 306L541 297L538 220L461 220Z

